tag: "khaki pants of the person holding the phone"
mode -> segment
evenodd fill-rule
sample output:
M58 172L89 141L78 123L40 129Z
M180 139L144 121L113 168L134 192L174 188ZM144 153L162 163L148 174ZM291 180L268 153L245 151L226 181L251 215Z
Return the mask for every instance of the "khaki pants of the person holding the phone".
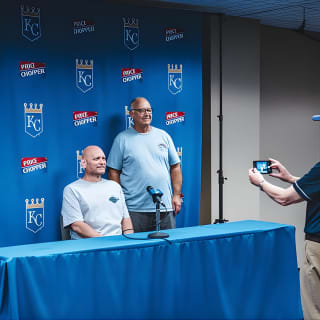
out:
M305 320L320 320L320 243L305 240L305 261L300 270Z

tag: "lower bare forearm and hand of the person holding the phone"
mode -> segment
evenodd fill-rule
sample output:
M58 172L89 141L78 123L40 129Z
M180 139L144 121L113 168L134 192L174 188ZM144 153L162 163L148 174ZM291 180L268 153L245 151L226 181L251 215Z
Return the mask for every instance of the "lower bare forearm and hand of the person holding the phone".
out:
M249 170L249 180L255 186L260 187L272 200L282 206L288 206L293 203L304 201L293 186L286 189L277 187L266 181L257 169L252 168Z

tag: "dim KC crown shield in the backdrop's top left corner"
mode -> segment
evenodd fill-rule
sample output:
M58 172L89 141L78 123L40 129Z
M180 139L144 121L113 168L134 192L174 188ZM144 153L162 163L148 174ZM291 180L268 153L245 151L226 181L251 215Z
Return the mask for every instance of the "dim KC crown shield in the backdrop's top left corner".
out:
M40 8L21 5L22 36L30 41L41 37Z

